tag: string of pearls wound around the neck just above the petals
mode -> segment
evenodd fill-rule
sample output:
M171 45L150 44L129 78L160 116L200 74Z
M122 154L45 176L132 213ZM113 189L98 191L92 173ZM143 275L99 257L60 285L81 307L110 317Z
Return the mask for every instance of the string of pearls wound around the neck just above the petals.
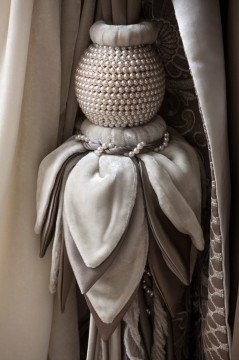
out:
M77 134L75 136L76 141L82 141L84 143L92 144L92 145L99 145L96 150L94 150L95 155L101 156L106 150L110 150L113 148L116 148L116 145L114 145L112 142L109 143L100 143L100 141L97 140L91 140L86 135ZM162 138L162 144L159 146L154 147L153 151L159 152L163 151L169 144L170 135L168 132L164 133L164 136ZM139 142L136 147L131 150L129 153L124 153L125 156L129 156L130 158L133 158L135 155L139 154L144 147L149 147L144 141Z

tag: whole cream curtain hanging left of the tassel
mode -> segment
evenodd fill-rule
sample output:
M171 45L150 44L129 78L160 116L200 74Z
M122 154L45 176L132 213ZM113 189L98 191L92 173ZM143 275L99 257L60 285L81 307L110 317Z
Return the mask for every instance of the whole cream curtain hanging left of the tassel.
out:
M39 259L39 239L33 229L38 165L57 144L60 91L60 1L1 1L0 357L3 360L47 359L51 333L52 359L57 359L54 344L58 335L54 334L54 327L51 330L53 298L48 291L50 254ZM74 306L71 310L75 310ZM62 321L70 315L66 313ZM55 321L57 309L54 309ZM64 329L67 331L67 326ZM71 322L73 338L74 330ZM78 358L77 343L71 340L64 358Z

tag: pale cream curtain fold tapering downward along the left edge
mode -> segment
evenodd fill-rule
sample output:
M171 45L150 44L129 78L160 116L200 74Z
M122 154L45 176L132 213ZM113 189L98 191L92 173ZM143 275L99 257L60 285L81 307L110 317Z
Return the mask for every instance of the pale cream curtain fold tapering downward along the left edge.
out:
M16 149L33 3L9 0L0 4L0 214Z

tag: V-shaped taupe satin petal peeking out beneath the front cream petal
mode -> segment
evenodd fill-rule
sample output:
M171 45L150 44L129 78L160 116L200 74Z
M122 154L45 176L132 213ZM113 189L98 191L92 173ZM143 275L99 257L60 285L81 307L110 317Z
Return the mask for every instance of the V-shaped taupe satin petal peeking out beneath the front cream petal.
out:
M114 248L109 257L96 268L90 268L85 265L82 256L79 253L79 250L71 236L66 220L64 220L64 239L69 261L78 286L81 290L81 293L85 294L112 264L115 257L118 255L122 246L122 242L125 238L122 236L121 240L118 242L117 246Z

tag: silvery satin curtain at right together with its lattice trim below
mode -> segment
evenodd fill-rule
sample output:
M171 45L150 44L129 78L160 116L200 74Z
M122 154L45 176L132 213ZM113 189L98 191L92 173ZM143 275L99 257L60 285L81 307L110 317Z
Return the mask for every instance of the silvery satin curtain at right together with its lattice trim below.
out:
M211 234L207 308L202 330L204 350L206 357L214 354L215 359L228 359L231 344L228 324L230 176L219 1L172 2L198 97L210 156Z

